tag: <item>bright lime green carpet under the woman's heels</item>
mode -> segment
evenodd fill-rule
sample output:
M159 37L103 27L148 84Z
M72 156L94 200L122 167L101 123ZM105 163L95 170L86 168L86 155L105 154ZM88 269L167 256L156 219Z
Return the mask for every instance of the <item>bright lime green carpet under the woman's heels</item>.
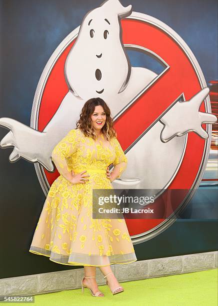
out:
M38 294L34 305L217 306L217 272L218 269L210 269L122 282L124 292L117 295L112 295L108 286L99 285L104 297L91 296L87 288L83 294L81 288Z

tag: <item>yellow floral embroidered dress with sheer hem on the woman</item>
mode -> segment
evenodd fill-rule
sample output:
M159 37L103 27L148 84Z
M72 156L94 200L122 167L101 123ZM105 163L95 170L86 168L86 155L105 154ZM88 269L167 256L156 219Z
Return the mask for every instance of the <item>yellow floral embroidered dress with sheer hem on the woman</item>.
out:
M136 261L124 218L92 218L92 189L113 189L106 167L113 163L119 177L125 169L127 158L118 140L110 139L106 147L80 129L71 129L56 144L51 159L60 175L48 191L29 252L67 265ZM70 183L65 177L71 170L87 170L89 181Z

